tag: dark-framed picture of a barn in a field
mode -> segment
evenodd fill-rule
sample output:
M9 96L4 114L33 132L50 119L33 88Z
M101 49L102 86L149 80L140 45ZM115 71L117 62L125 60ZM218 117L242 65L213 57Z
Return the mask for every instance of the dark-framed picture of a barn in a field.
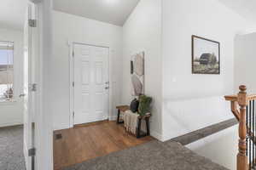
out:
M192 36L192 73L220 74L220 43Z

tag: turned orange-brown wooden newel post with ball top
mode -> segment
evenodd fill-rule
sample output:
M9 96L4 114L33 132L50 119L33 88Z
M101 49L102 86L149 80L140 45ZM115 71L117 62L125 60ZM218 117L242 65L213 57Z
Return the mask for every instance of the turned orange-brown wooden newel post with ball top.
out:
M237 154L237 170L247 170L247 124L246 124L246 110L247 110L247 87L240 86L238 94L238 105L240 106L240 122L239 122L239 144Z

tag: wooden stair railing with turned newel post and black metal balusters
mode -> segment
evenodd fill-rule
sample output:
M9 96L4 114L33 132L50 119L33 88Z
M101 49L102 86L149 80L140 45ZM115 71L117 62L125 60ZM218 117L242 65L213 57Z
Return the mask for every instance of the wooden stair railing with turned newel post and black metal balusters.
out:
M231 103L231 111L239 122L237 170L253 169L256 165L256 95L247 95L247 87L241 85L237 95L224 96Z

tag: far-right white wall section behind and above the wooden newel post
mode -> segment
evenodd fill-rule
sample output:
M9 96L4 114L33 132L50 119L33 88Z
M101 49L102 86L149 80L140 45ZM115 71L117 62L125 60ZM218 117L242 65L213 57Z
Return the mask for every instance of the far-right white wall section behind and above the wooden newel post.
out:
M247 85L247 93L256 94L256 33L240 35L235 43L235 88Z

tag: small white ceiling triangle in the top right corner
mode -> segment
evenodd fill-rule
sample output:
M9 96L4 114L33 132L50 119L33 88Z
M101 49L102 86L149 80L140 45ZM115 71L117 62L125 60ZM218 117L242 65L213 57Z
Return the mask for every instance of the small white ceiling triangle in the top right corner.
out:
M247 20L256 23L256 0L218 0Z

